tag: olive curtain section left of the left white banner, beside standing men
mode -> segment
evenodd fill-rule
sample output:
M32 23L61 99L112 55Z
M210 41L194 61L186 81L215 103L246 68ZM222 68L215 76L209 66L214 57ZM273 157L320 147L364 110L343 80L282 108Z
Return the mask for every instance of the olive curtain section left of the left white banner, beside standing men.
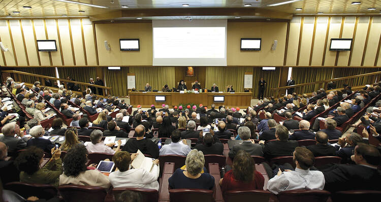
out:
M120 71L111 71L107 68L103 68L103 75L105 77L105 84L107 87L111 87L111 92L108 94L115 96L124 96L127 94L127 74L129 68L120 68ZM94 79L95 80L95 79Z

